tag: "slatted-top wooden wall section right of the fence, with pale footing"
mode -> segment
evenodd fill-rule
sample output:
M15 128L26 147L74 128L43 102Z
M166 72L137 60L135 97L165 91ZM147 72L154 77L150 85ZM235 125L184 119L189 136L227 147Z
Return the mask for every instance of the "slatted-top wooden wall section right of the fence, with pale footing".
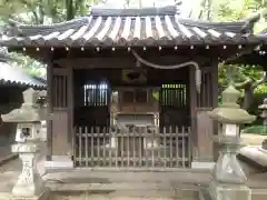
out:
M215 123L208 117L207 111L218 103L218 69L217 62L202 68L202 86L198 94L196 111L196 143L192 168L212 168Z

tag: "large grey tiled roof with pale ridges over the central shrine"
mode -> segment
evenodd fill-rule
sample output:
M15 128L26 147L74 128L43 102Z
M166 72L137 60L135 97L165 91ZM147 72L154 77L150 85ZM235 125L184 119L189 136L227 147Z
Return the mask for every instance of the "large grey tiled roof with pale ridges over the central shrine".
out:
M51 26L13 24L3 46L179 46L255 42L258 17L238 22L181 19L170 7L150 10L92 9L90 14Z

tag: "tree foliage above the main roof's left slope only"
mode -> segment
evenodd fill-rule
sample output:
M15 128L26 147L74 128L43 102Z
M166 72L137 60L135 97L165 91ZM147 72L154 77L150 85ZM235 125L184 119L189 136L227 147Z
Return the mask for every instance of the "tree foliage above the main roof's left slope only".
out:
M14 19L27 23L55 23L71 20L89 11L100 0L0 0L2 20Z

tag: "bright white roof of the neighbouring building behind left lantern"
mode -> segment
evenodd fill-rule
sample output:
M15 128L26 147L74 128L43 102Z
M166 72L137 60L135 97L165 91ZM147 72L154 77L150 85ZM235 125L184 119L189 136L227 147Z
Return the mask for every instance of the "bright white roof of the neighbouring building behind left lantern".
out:
M0 53L0 58L4 58L3 53ZM38 80L38 78L26 74L21 69L10 66L7 60L0 60L0 86L26 86L36 89L44 89L46 82Z

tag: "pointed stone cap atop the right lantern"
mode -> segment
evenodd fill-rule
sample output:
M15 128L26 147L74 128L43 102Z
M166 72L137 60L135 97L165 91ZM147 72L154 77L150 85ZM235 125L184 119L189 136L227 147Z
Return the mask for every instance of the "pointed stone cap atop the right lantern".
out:
M225 91L222 91L221 107L215 108L212 111L208 111L209 117L220 123L251 123L256 117L250 116L246 110L240 109L240 107L236 103L239 97L240 92L233 86L229 86Z

